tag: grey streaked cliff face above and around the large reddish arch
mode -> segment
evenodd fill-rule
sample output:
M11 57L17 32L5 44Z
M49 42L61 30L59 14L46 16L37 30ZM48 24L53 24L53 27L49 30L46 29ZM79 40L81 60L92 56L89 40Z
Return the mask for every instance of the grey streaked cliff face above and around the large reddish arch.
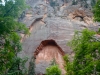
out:
M53 2L56 5L51 6L50 1L57 4ZM27 0L27 3L31 9L26 11L22 22L29 28L30 36L23 37L23 51L19 54L20 57L29 58L27 68L34 51L43 40L55 40L72 60L74 53L67 42L72 39L74 31L97 26L92 21L91 10L81 4L72 5L72 0Z

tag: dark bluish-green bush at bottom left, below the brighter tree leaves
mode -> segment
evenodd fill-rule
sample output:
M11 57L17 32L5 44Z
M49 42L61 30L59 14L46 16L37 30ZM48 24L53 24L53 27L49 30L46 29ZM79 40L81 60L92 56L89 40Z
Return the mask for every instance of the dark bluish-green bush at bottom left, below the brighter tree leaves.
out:
M27 69L25 68L26 61L26 58L24 58L23 60L19 57L14 58L13 65L8 70L7 75L25 75L27 73Z

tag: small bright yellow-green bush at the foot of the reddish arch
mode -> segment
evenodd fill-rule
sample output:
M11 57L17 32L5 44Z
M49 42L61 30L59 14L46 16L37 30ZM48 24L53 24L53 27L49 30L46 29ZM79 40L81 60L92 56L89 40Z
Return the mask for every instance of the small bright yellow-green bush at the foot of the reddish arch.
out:
M61 70L57 65L53 65L46 69L46 75L61 75Z

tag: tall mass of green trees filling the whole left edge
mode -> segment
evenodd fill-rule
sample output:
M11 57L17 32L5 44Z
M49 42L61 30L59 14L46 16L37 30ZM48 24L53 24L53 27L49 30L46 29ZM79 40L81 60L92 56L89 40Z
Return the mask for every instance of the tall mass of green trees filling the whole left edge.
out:
M23 11L24 0L5 0L5 6L0 4L0 75L25 75L26 59L18 57L22 50L19 36L27 34L24 24L15 21Z

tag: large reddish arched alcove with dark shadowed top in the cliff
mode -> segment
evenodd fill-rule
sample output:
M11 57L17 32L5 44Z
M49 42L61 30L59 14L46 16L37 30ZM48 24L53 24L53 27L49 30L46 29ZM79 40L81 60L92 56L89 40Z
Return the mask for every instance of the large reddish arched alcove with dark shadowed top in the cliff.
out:
M65 74L64 55L64 51L54 40L51 39L42 41L34 52L36 73L40 72L45 74L46 68L50 66L52 60L55 60L62 73Z

